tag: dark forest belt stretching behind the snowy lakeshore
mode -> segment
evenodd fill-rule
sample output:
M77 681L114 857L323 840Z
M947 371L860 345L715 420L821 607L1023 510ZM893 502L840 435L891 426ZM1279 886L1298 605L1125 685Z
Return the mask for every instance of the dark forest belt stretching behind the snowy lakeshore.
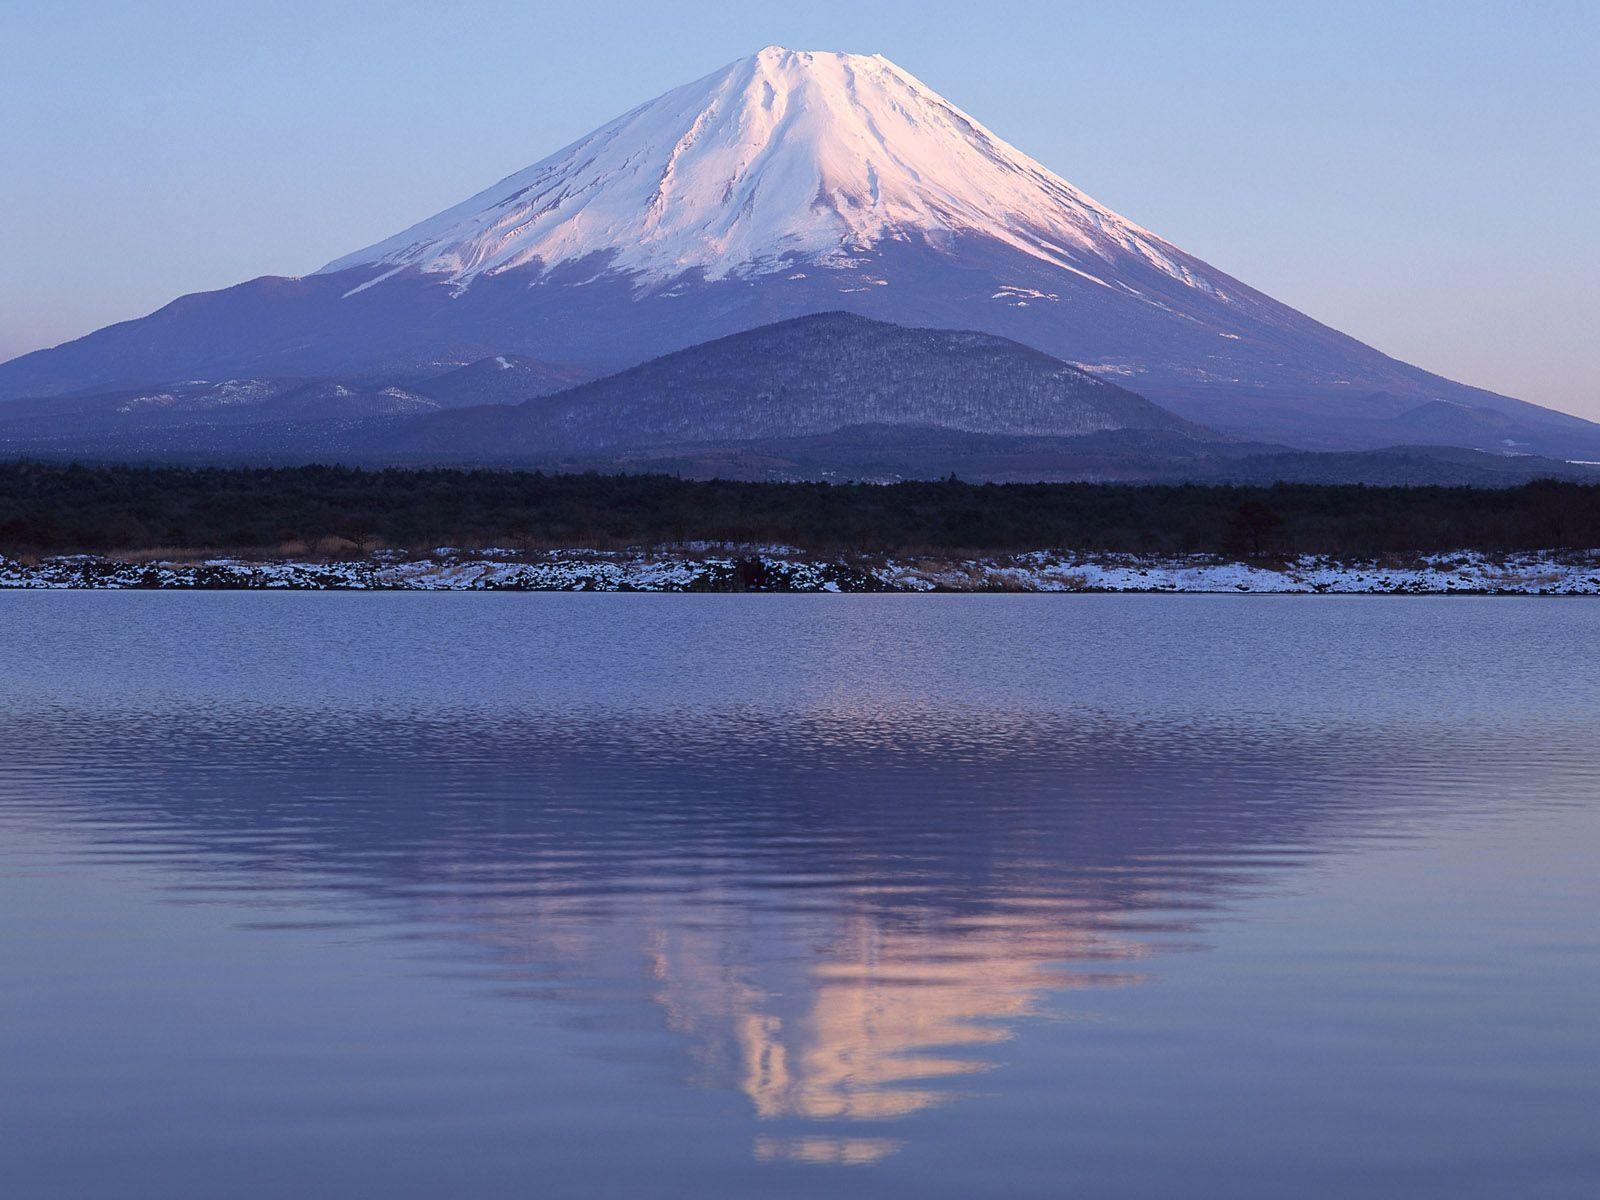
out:
M1600 486L739 483L347 467L0 464L0 552L779 542L816 552L1070 549L1378 555L1600 547Z

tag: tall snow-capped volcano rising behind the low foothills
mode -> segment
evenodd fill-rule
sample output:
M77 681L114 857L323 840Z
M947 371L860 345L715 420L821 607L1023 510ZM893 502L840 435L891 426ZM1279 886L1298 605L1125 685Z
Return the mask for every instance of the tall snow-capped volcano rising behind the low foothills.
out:
M1242 437L1390 445L1443 403L1464 411L1448 422L1464 445L1600 458L1600 427L1254 291L882 56L778 46L312 275L186 296L0 365L0 398L491 355L598 376L830 310L1005 336Z

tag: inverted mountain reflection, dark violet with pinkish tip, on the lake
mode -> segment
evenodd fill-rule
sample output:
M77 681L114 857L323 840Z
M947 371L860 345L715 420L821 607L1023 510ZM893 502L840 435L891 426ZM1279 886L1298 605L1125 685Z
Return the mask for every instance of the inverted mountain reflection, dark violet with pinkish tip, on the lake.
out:
M245 893L270 928L293 923L275 896L334 893L352 920L456 947L454 976L597 1030L648 995L688 1082L824 1126L958 1096L1046 994L1136 984L1230 901L1405 835L1429 806L1416 776L1448 795L1466 750L926 704L35 714L11 731L125 763L56 779L45 806L98 861L160 864L176 899ZM1344 757L1358 787L1318 766L1326 739L1365 744ZM1408 779L1403 806L1386 776ZM898 1144L754 1150L866 1163Z

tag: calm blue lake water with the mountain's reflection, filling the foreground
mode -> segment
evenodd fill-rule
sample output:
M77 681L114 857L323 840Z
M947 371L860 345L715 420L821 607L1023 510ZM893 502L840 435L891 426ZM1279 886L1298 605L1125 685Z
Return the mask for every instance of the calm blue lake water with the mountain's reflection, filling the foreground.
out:
M1600 1194L1600 603L0 634L8 1200Z

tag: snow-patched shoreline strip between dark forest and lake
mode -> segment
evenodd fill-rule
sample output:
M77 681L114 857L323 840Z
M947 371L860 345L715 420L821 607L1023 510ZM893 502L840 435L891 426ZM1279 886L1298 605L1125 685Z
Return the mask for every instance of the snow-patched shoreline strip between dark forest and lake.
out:
M1400 563L1306 555L1274 563L1214 557L1070 555L822 558L782 547L674 550L378 552L346 562L0 558L11 589L298 589L418 592L1211 592L1323 595L1600 595L1600 550L1434 554Z

